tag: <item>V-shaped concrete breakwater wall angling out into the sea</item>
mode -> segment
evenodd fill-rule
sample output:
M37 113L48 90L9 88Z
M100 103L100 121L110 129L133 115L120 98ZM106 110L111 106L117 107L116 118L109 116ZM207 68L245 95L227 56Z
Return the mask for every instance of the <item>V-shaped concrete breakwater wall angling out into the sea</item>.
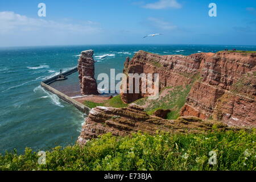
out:
M90 111L89 107L86 107L85 105L81 104L80 102L77 102L73 98L67 96L66 94L60 92L59 90L56 90L55 88L52 88L52 86L49 85L52 82L55 82L55 81L59 80L60 78L65 78L66 76L71 75L72 73L75 73L75 72L77 72L77 68L73 68L67 72L60 73L59 75L48 78L47 80L43 80L41 82L41 86L44 89L48 90L49 92L56 94L56 96L58 96L61 100L68 102L69 104L72 104L77 109L79 109L80 111L82 111L83 113L88 115L89 111Z

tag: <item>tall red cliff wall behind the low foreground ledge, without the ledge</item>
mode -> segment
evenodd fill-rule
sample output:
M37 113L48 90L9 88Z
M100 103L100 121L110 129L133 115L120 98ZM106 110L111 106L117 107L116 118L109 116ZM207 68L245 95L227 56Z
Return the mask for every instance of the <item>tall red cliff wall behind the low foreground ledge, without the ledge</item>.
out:
M229 125L256 126L256 53L217 52L189 56L159 56L139 51L126 59L124 73L159 73L159 88L185 86L195 81L181 115L213 117ZM127 78L127 80L129 80ZM122 93L131 103L148 94ZM166 108L168 109L168 108Z

